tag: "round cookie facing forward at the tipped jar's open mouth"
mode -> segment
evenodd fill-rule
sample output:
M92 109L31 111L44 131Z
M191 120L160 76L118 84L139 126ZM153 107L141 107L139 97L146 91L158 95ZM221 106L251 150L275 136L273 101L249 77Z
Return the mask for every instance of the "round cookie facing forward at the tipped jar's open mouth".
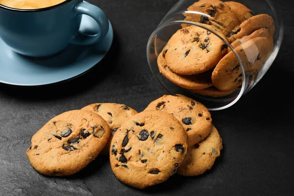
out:
M193 75L212 69L222 58L226 45L213 33L197 26L178 30L163 49L172 72Z

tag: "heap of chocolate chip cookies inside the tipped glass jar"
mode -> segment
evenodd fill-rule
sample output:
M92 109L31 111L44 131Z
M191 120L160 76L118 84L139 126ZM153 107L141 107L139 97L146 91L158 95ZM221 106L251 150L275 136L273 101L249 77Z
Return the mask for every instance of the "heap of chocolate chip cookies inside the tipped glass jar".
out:
M210 15L184 13L187 21L201 23L224 35L240 57L248 83L257 74L273 49L274 21L267 14L255 15L245 5L220 0L199 0L188 7ZM225 31L215 28L216 23ZM157 58L160 73L174 84L193 93L223 97L242 86L243 74L236 55L215 34L194 25L182 25ZM227 33L227 29L232 29Z

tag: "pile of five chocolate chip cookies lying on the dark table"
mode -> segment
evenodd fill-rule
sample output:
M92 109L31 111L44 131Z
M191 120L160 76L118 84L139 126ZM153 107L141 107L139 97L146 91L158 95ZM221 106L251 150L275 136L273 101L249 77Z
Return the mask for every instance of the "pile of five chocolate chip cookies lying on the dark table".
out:
M110 156L123 183L144 189L175 173L209 170L222 140L207 108L182 95L163 96L138 113L117 103L95 103L60 114L31 139L31 165L49 176L71 175L98 154Z

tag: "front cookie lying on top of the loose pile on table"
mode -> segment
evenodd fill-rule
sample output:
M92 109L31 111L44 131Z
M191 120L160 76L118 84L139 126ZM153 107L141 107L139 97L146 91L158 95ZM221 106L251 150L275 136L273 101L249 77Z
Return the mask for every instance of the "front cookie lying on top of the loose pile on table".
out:
M171 114L141 112L114 135L111 169L120 181L137 189L162 183L182 164L186 142L186 131Z

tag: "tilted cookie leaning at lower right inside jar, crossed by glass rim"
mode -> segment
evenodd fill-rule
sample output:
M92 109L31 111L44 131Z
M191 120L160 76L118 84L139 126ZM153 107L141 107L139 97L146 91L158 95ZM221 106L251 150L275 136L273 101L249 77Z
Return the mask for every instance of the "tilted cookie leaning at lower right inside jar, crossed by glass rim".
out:
M246 75L257 75L272 51L273 44L266 37L256 37L235 49L241 58ZM249 78L250 79L250 78ZM242 70L235 54L230 51L212 73L212 83L221 91L235 90L242 85Z

